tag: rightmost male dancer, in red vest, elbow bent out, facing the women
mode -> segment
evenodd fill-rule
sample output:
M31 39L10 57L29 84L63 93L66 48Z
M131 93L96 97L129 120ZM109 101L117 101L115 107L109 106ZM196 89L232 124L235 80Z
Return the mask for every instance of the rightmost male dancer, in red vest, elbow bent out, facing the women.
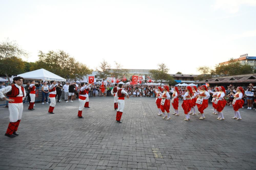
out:
M122 114L123 114L123 111L124 111L124 108L125 108L125 96L127 98L129 98L129 95L125 90L122 89L123 84L119 84L119 88L120 89L117 91L118 109L117 109L117 112L116 112L116 121L119 122L119 123L122 123L120 120L121 120L121 117L122 117Z

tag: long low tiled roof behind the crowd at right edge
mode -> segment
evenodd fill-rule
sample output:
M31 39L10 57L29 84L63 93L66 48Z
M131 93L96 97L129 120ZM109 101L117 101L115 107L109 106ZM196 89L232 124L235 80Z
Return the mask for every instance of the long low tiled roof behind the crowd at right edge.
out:
M227 77L227 78L211 78L203 81L195 82L196 84L204 84L204 83L242 83L242 82L256 82L255 76L234 76L234 77Z

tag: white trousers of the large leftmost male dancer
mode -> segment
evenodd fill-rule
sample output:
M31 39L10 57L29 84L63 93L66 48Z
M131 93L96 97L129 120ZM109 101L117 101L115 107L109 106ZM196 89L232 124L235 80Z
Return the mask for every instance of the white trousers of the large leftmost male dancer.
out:
M23 103L9 103L10 122L17 122L22 117Z

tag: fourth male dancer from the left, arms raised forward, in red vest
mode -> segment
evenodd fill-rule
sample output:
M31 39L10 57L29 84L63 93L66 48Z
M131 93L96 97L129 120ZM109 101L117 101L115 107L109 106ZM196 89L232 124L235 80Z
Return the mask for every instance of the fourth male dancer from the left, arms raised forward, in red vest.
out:
M87 90L86 89L88 89L90 86L91 86L91 84L90 83L88 83L87 85L85 85L85 83L84 82L82 82L81 83L81 88L80 88L80 92L79 92L79 109L78 109L78 114L77 114L77 116L79 117L79 118L84 118L84 117L82 117L82 111L83 111L83 108L84 108L84 105L85 105L85 100L86 100L86 98L88 97L88 94L87 94Z

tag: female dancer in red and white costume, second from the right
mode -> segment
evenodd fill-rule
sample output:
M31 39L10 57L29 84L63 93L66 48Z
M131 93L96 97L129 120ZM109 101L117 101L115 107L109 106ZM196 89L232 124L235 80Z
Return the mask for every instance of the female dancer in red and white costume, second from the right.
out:
M226 106L226 100L225 100L225 93L226 90L223 86L220 87L222 91L218 92L218 95L216 97L216 100L218 100L218 103L216 104L216 110L218 112L219 120L224 120L224 115L222 113L222 110Z

